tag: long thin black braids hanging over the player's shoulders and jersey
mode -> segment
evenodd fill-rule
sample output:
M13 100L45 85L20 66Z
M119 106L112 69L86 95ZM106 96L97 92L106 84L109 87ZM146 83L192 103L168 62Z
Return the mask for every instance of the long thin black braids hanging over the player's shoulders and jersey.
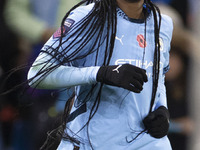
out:
M67 19L67 17L69 16L70 12L83 4L88 5L91 3L94 3L94 7L92 8L92 10L74 26L74 28L70 32L70 36L68 36L67 38L65 38L65 40L63 40L63 37L66 36L63 34L64 33L63 32L64 22ZM150 0L145 0L145 3L146 3L146 7L147 7L146 9L151 10L153 13L153 17L154 17L155 51L154 51L154 58L153 58L154 63L153 63L152 97L151 97L151 105L150 105L150 109L149 109L149 112L151 112L154 101L155 101L156 91L157 91L157 87L158 87L158 79L159 79L159 64L160 64L159 32L160 32L160 26L161 26L161 15L160 15L159 8L155 4L153 4ZM82 2L75 5L68 13L66 13L66 15L64 16L64 18L62 20L62 23L61 23L61 33L62 34L61 34L61 37L58 39L59 40L58 46L56 48L53 48L53 46L50 46L47 49L48 53L50 55L52 55L52 59L56 59L60 63L57 65L54 65L54 66L50 65L47 68L44 67L45 69L42 68L39 71L39 73L37 74L37 76L42 75L42 76L40 76L40 78L42 78L42 77L48 75L53 70L55 70L56 68L58 68L59 66L66 64L66 63L70 63L77 59L82 59L94 52L96 52L95 53L96 59L94 62L96 65L97 58L99 55L99 48L102 45L102 42L105 42L106 46L105 46L105 51L104 51L104 59L103 59L101 65L109 65L109 62L112 57L112 52L113 52L114 42L115 42L115 37L116 37L116 30L117 30L116 7L117 7L116 0L83 0ZM145 29L146 29L146 20L147 20L146 18L147 18L147 14L145 15ZM85 32L86 29L87 29L87 32ZM145 30L145 32L146 32L146 30ZM83 34L83 37L85 37L85 38L79 39L78 37L81 34ZM94 36L94 35L96 35L96 36ZM145 35L146 35L146 33L145 33ZM62 45L72 37L73 37L73 40L71 40L71 42L69 42L69 44L66 47L63 47ZM94 42L93 42L93 44L90 45L90 49L86 53L80 55L81 50L84 48L84 46L87 45L87 43L91 39ZM59 49L62 49L62 50L60 51ZM73 51L72 51L72 49L73 49ZM66 55L67 53L69 55ZM48 60L48 62L50 62L50 61L52 61L52 60ZM33 80L33 78L30 80ZM96 86L96 84L93 85L93 87L91 88L91 90L87 94L87 96L92 95L92 92L93 92L93 89L95 86ZM90 120L95 115L95 113L98 109L100 100L101 100L100 96L101 96L102 87L103 87L103 84L100 85L98 94L94 101L93 107L90 111L89 119L88 119L87 123L85 125L83 125L83 127L81 129L83 129L84 127L88 128ZM73 137L70 137L66 131L67 130L66 124L68 122L70 109L71 109L72 104L74 103L74 95L75 94L73 93L73 95L66 102L65 110L63 113L62 125L61 125L61 128L59 128L59 132L58 132L58 130L54 130L54 131L60 133L59 134L60 136L58 136L59 138L66 138L66 139L71 140L74 143L79 144L80 141ZM82 101L82 103L85 103L85 101ZM64 130L65 130L65 132L64 132ZM55 134L54 131L52 131L52 133L48 134L49 138L52 139L53 134ZM88 133L88 137L89 137L89 133ZM41 149L53 149L52 142L55 142L57 140L56 140L56 138L53 138L53 141L51 140L51 144L48 144L48 141L49 141L49 139L45 142L45 144L43 145L43 147ZM90 145L92 147L92 143L90 143Z

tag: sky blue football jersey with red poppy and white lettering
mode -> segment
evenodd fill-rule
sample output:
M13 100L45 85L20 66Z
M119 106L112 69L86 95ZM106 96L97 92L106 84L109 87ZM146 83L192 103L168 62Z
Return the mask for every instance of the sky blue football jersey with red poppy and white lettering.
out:
M72 30L83 17L85 17L94 4L81 6L71 12L65 22L65 31ZM153 110L159 106L167 107L166 89L164 85L165 73L169 70L169 50L172 38L172 20L166 15L162 15L162 24L160 30L160 74L158 81L158 89L156 93ZM88 121L90 110L96 99L96 93L99 84L93 89L93 95L87 98L87 92L93 87L92 85L80 85L75 87L76 96L71 114L78 109L83 110L67 123L66 132L73 138L80 141L80 150L91 150L90 142L95 150L170 150L171 146L167 137L155 139L147 133L142 133L136 140L130 142L134 137L144 130L142 120L148 115L150 109L152 95L152 67L154 57L154 19L153 14L149 14L146 25L145 39L145 23L143 20L134 20L128 18L125 13L117 8L117 33L115 37L115 45L110 65L132 64L143 68L147 71L148 82L144 83L141 93L134 93L123 88L103 85L101 93L101 101L98 110L91 119L87 127L81 129ZM54 43L58 43L57 38L60 37L58 30L44 45L48 47ZM64 37L63 40L67 38ZM80 38L84 38L81 37ZM70 39L73 40L73 39ZM94 42L90 40L90 42ZM89 43L90 43L89 42ZM67 46L68 42L63 44ZM85 51L87 51L85 46ZM96 65L101 65L101 59L104 55L104 47L100 47L100 55ZM84 49L81 53L84 53ZM102 49L102 51L101 51ZM72 50L73 52L73 50ZM69 53L72 53L69 52ZM102 55L101 55L102 53ZM66 53L68 55L68 53ZM79 55L79 54L77 54ZM93 66L95 60L95 52L85 58L75 60L70 65L75 67ZM67 65L67 64L66 64ZM81 94L80 94L81 93ZM85 93L85 94L84 94ZM84 101L83 101L84 100ZM80 109L81 108L81 109ZM152 110L152 111L153 111ZM81 129L81 130L80 130ZM59 150L72 150L74 143L62 140Z

